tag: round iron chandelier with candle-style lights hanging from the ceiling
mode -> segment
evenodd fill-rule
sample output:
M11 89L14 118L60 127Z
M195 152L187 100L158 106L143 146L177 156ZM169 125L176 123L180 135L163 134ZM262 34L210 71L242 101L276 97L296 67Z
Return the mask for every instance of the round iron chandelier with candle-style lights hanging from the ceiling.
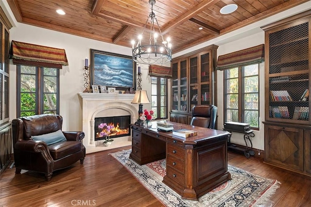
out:
M153 12L153 6L155 5L155 0L149 0L151 5L151 13L149 14L145 27L141 34L138 35L138 43L135 45L135 41L132 41L132 58L138 64L165 64L170 63L172 60L172 45L170 43L170 38L164 40L161 33L159 24L156 20L155 13ZM147 23L150 18L151 28L149 45L141 44L142 34L144 33ZM159 29L159 33L155 32L155 23ZM158 43L158 38L160 39Z

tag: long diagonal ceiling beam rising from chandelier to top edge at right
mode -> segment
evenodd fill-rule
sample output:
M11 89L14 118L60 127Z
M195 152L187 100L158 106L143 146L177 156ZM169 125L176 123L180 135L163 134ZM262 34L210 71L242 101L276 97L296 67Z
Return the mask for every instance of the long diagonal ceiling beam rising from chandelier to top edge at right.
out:
M185 21L188 21L190 18L193 16L196 16L197 14L201 13L204 11L207 7L214 5L220 0L203 0L196 6L192 7L190 10L187 12L183 13L181 16L175 18L173 21L170 21L168 24L164 25L161 28L162 34L165 34L167 32L170 32L173 30L175 27L178 27L180 24L184 23Z

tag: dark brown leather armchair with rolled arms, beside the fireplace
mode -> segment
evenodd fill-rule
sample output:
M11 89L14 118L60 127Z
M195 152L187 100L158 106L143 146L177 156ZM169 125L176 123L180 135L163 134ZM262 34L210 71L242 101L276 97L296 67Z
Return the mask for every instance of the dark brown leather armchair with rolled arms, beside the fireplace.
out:
M46 180L50 181L53 171L69 167L79 159L83 164L86 148L81 141L85 133L61 131L62 124L62 116L53 114L25 116L12 120L16 174L20 174L21 169L36 171L44 173ZM56 131L62 132L66 139L49 145L48 142L33 140L37 135L50 139L45 135Z

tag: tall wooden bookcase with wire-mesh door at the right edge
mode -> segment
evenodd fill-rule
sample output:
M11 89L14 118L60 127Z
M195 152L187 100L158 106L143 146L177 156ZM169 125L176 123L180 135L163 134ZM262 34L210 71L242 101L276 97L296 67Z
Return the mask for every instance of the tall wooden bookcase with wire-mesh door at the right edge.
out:
M265 31L265 162L310 172L310 11Z

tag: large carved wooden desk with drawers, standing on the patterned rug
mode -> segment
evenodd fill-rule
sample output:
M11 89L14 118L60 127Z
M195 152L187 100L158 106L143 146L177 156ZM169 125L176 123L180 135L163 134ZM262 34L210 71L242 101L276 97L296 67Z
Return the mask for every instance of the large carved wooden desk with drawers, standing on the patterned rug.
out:
M200 196L231 179L227 171L227 131L174 123L174 129L196 130L197 136L173 137L172 132L139 127L132 128L130 159L139 165L166 158L163 183L182 198L197 200Z

